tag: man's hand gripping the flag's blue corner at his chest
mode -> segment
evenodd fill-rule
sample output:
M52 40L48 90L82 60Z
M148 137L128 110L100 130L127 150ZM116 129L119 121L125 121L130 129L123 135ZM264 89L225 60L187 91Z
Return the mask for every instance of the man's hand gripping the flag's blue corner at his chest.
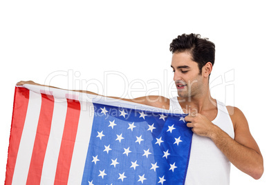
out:
M196 135L212 137L215 125L204 115L199 113L196 113L196 116L188 115L185 117L185 121L187 121L187 127L192 128Z

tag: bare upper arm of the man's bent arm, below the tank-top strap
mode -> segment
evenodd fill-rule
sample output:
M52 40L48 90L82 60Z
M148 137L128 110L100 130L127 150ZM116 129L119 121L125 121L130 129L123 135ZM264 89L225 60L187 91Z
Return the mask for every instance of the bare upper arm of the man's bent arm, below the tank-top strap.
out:
M243 146L252 148L261 154L257 142L250 133L248 121L239 108L227 106L228 112L234 125L234 140Z

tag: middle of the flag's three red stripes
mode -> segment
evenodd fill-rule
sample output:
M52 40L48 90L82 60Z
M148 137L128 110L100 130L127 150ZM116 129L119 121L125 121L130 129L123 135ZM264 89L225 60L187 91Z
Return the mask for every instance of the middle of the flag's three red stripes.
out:
M54 109L54 97L41 94L41 110L26 184L39 184Z

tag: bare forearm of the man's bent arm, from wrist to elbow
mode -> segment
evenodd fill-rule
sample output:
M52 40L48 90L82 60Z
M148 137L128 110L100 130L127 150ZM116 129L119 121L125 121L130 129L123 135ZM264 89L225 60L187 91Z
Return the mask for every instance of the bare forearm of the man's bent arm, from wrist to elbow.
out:
M210 138L230 162L254 179L259 179L263 173L263 159L261 154L252 148L248 148L234 141L232 137L218 126L214 126L213 130Z

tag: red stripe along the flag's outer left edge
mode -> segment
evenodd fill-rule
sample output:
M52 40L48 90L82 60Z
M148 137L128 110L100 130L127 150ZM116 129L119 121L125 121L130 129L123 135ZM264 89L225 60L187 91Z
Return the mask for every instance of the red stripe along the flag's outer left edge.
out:
M8 149L8 162L5 180L6 185L12 184L12 176L15 171L15 162L17 161L17 153L24 128L28 101L29 90L26 88L16 87L12 113L12 126L10 128L10 146Z

